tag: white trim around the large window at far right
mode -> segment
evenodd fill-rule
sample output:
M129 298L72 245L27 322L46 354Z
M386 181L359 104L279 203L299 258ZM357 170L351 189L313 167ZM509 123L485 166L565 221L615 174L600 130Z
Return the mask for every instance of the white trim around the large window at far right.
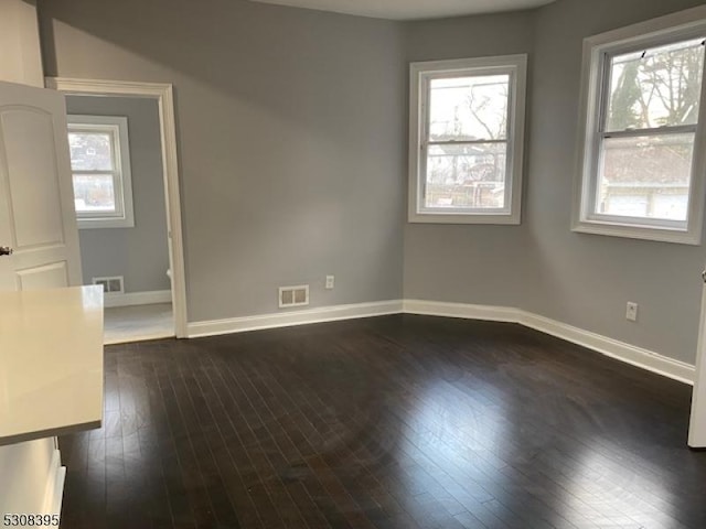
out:
M694 138L694 163L686 227L670 220L631 217L596 218L591 214L595 164L598 159L598 131L606 53L621 53L635 46L657 46L674 40L706 34L706 7L696 7L609 31L584 40L577 177L574 186L571 230L632 239L699 245L704 218L706 177L706 80L702 84L698 126ZM706 68L704 68L706 73ZM680 223L681 224L681 223Z

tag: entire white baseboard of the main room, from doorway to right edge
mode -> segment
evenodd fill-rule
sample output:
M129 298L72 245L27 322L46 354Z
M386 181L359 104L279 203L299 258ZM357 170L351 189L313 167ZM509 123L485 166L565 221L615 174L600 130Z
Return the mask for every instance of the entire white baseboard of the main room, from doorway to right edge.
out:
M517 323L674 380L693 385L696 377L696 369L691 364L513 306L472 305L422 300L382 301L195 322L189 324L188 336L194 338L398 313Z

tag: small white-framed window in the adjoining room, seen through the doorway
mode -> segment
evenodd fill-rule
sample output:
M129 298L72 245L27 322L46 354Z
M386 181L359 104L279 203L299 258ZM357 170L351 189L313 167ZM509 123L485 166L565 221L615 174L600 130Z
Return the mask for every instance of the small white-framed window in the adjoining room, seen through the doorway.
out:
M78 227L135 226L127 118L68 116L68 147Z

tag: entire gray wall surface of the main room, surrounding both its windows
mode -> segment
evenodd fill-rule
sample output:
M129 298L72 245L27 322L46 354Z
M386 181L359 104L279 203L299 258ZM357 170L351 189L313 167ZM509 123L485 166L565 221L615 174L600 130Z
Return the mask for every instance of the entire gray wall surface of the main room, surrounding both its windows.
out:
M698 3L394 23L242 0L41 0L40 18L49 75L175 86L190 321L275 312L277 285L311 282L313 305L520 306L693 363L703 247L574 234L569 214L582 39ZM530 54L523 224L405 225L407 63L509 53Z

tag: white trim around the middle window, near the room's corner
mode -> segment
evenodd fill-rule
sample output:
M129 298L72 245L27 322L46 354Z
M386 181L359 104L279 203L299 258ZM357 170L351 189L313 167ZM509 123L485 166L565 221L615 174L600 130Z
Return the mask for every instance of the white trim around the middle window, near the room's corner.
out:
M492 75L510 74L509 121L507 121L507 170L506 188L510 196L506 207L500 209L474 209L467 212L425 210L422 207L424 162L421 142L426 90L425 78L446 74ZM409 212L410 223L430 224L510 224L521 223L522 173L525 130L525 99L527 86L527 55L505 55L498 57L461 58L451 61L428 61L411 63L409 67Z

